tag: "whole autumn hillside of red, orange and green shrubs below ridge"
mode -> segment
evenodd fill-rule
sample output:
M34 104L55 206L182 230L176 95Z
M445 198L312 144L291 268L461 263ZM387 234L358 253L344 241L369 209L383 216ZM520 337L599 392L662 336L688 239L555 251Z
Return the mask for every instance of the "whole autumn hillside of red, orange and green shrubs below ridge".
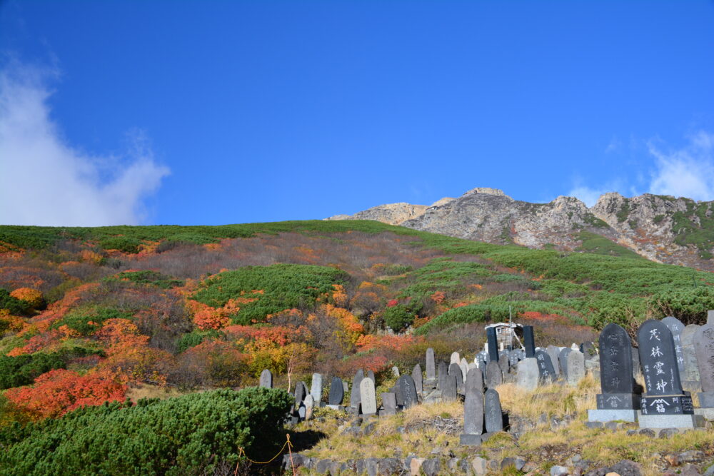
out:
M375 221L0 226L0 443L16 448L0 465L67 418L114 425L174 405L81 410L104 402L244 388L265 368L281 388L359 368L379 383L427 347L479 350L484 323L509 315L570 345L608 322L703 323L714 308L711 273L589 243L532 250Z

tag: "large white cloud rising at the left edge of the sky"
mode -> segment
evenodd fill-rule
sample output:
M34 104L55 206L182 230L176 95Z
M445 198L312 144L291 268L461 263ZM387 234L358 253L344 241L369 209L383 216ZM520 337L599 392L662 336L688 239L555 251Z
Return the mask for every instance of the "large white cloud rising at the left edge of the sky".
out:
M69 145L50 118L47 76L16 63L0 71L0 223L141 223L145 198L169 168L140 138L123 157L91 156Z

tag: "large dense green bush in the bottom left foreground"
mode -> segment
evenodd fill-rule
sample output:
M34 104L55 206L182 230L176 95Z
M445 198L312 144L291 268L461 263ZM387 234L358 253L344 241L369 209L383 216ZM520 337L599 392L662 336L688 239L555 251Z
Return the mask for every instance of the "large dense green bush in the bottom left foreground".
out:
M84 407L57 420L0 431L0 475L203 475L235 467L239 448L271 457L293 402L246 388Z

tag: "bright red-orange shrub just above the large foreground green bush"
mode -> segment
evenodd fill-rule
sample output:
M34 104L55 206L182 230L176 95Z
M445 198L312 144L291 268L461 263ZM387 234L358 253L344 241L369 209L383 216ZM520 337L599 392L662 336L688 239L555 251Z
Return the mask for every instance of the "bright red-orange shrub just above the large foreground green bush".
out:
M5 396L36 418L59 417L86 405L124 400L126 385L111 372L79 375L73 370L50 370L31 387L11 388Z

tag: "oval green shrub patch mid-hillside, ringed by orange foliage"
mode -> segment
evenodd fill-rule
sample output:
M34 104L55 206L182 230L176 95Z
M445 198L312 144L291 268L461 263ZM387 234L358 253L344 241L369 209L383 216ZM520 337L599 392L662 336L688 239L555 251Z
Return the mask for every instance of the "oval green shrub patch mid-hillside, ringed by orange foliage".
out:
M203 281L193 298L213 307L241 297L241 292L258 298L242 304L238 313L231 316L235 323L246 325L262 322L266 315L281 310L313 308L321 295L333 291L333 284L345 283L348 278L344 271L327 266L246 266ZM253 290L262 290L263 294L251 295Z

